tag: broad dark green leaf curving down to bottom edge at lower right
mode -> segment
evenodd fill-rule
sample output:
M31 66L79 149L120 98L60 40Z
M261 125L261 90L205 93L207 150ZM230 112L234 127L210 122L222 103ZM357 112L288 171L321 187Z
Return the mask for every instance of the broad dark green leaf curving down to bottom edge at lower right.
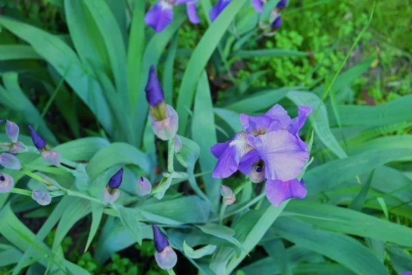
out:
M323 254L356 274L389 274L370 250L345 234L319 230L288 217L277 219L273 229L282 238Z

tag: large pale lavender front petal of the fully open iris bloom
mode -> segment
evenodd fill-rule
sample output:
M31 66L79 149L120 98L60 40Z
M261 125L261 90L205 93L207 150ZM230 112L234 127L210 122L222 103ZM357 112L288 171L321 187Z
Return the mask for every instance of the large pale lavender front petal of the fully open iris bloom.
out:
M266 179L295 179L303 170L309 159L306 152L297 142L297 138L288 131L276 131L248 136L248 142L259 153L265 164Z

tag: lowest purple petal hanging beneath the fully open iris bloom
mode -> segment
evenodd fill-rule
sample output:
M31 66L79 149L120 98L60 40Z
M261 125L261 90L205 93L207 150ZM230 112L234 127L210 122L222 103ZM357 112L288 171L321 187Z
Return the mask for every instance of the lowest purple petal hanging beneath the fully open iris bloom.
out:
M289 181L281 181L279 179L268 179L264 192L273 206L279 206L282 202L290 198L303 199L306 197L306 188L304 179L298 181L291 179Z

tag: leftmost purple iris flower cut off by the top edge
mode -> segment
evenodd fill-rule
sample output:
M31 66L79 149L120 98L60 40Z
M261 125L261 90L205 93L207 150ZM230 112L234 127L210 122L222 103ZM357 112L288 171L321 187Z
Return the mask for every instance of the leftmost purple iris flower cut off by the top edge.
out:
M173 21L173 7L175 5L186 4L187 17L190 22L198 24L200 22L196 12L196 2L198 0L159 0L144 17L146 25L156 32L161 32Z

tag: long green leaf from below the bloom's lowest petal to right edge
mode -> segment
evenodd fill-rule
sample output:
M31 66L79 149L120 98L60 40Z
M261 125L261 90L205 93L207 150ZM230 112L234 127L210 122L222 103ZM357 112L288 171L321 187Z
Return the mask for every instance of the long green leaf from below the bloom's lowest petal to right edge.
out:
M378 219L349 208L341 208L309 201L291 201L285 212L296 214L296 219L317 228L412 247L412 228ZM373 230L371 230L373 228Z

